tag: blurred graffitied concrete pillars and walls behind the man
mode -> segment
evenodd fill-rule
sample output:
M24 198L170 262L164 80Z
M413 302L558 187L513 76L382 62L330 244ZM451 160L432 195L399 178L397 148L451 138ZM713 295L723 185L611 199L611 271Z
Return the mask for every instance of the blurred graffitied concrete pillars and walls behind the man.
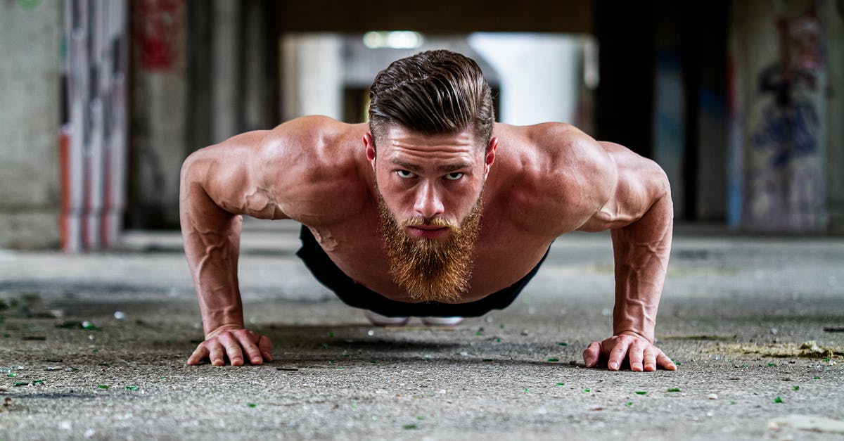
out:
M176 230L193 150L363 122L433 48L478 61L499 121L657 161L680 223L844 233L844 0L0 0L0 248Z

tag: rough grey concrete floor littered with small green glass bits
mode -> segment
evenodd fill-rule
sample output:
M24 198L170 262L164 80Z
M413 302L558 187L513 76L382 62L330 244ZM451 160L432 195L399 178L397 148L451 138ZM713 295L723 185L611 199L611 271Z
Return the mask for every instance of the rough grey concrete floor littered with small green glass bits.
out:
M797 353L842 351L844 238L677 234L657 345L679 370L630 373L582 366L611 331L606 234L561 237L511 308L453 329L373 328L311 279L296 234L244 233L246 320L275 343L258 367L186 365L202 330L177 234L0 252L0 439L844 433L844 360Z

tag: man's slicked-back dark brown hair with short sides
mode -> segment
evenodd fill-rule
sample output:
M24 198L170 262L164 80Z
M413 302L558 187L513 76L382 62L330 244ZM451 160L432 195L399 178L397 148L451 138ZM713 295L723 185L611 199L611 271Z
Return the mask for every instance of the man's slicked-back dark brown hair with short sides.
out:
M479 147L492 138L495 110L478 63L457 52L419 52L392 62L370 88L370 130L378 139L393 124L414 132L454 134L473 128Z

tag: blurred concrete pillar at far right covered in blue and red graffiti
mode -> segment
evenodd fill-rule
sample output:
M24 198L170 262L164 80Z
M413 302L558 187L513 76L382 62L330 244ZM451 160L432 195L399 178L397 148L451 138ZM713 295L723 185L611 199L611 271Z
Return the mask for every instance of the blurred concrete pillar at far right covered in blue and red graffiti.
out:
M733 226L827 231L827 3L730 3Z

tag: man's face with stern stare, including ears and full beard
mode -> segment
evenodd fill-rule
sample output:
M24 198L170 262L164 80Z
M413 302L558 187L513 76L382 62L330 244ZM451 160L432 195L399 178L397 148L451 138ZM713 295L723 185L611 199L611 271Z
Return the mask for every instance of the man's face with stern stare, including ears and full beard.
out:
M370 136L364 141L393 279L416 300L459 302L468 290L495 139L481 149L471 128L425 136L392 127L377 140L377 153Z

